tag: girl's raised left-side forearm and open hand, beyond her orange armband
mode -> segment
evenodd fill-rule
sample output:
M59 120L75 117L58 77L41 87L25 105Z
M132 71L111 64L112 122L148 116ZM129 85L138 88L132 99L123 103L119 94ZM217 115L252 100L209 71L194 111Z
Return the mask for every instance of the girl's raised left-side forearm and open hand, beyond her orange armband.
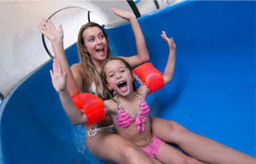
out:
M52 69L53 70L50 70L52 85L60 96L61 104L69 120L74 125L86 124L86 115L73 103L71 95L67 89L67 72L63 73L60 62L56 59L53 60Z

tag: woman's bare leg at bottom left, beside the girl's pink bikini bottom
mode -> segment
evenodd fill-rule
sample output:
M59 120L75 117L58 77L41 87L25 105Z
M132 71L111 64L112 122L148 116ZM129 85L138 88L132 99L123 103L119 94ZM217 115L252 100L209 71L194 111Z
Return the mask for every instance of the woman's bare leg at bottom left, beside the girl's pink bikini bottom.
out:
M86 136L86 146L93 155L107 163L156 163L132 142L114 133Z

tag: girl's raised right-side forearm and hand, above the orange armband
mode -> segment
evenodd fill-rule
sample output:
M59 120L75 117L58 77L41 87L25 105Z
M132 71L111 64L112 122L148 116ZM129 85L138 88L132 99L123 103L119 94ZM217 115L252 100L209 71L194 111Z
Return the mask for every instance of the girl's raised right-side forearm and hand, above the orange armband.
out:
M172 39L172 37L169 39L166 36L166 32L162 31L161 36L168 43L168 47L170 49L168 61L166 64L166 69L164 70L164 74L163 74L164 85L167 85L167 83L169 83L172 80L172 77L174 76L175 60L176 60L176 44L174 43L174 39Z

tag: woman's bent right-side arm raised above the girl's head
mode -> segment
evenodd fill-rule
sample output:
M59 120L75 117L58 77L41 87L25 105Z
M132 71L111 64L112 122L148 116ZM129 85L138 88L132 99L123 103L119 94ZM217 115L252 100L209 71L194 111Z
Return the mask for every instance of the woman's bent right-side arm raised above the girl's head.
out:
M139 26L136 16L131 12L118 10L113 7L111 8L111 10L115 15L120 16L121 18L130 22L131 28L133 28L133 33L135 36L138 54L135 56L122 57L122 58L128 61L132 68L135 68L143 64L144 62L148 61L150 56L148 53L146 41L144 39L143 33L141 31L141 27Z

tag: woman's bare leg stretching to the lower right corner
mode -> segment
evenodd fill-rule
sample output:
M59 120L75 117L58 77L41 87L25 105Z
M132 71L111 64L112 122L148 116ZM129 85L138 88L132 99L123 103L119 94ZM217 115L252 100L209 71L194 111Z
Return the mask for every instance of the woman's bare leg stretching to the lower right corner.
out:
M175 121L150 117L152 133L161 140L178 145L196 159L219 164L255 164L256 158L238 152L228 146L188 131Z

